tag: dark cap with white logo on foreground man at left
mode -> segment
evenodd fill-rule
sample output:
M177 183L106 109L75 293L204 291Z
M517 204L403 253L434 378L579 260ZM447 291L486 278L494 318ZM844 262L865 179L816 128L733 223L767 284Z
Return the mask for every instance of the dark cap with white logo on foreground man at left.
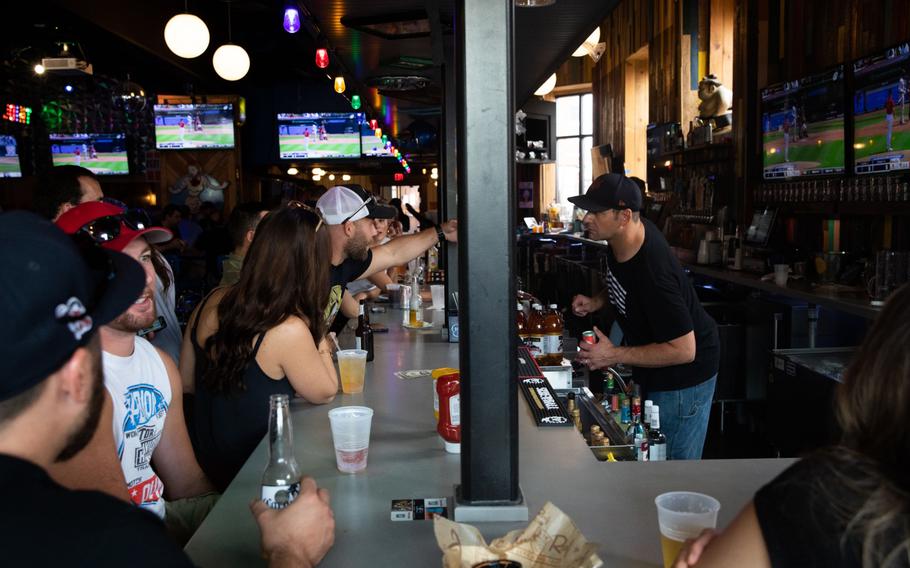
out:
M59 369L145 288L138 262L83 237L26 211L0 214L0 400Z

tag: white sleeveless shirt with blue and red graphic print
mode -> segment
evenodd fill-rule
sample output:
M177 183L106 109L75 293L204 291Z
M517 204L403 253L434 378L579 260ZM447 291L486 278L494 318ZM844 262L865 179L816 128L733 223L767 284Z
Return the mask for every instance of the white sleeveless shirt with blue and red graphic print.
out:
M114 443L133 503L164 518L164 484L152 469L171 404L171 384L151 343L135 340L133 354L104 353L104 386L114 401Z

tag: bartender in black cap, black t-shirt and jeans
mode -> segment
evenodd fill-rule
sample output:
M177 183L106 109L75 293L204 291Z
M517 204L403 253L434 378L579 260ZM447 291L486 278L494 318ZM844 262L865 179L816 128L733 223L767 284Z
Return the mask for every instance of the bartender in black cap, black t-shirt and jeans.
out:
M640 215L641 191L629 178L604 174L569 201L587 211L590 238L606 240L603 290L578 295L572 311L586 316L609 304L625 335L613 345L581 343L578 360L591 369L622 363L660 407L668 459L699 459L708 429L719 364L717 324L711 319L660 230Z

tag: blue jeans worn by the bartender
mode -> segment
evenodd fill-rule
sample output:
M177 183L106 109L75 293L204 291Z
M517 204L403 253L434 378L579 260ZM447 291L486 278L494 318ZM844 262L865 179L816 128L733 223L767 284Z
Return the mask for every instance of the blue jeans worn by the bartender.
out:
M694 387L648 393L660 407L660 431L667 437L668 460L701 459L715 384L716 374Z

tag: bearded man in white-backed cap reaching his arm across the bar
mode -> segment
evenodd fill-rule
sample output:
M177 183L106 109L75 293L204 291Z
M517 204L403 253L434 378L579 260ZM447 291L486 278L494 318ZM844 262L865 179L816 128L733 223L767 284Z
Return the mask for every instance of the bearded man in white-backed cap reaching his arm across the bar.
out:
M325 310L330 327L341 308L344 289L349 282L405 264L436 243L458 242L458 222L447 221L436 228L399 237L371 249L376 238L373 220L394 219L397 213L393 207L378 203L374 196L356 184L329 189L316 202L316 207L322 212L332 237L332 283ZM353 305L356 307L356 302ZM357 313L345 315L356 317Z

